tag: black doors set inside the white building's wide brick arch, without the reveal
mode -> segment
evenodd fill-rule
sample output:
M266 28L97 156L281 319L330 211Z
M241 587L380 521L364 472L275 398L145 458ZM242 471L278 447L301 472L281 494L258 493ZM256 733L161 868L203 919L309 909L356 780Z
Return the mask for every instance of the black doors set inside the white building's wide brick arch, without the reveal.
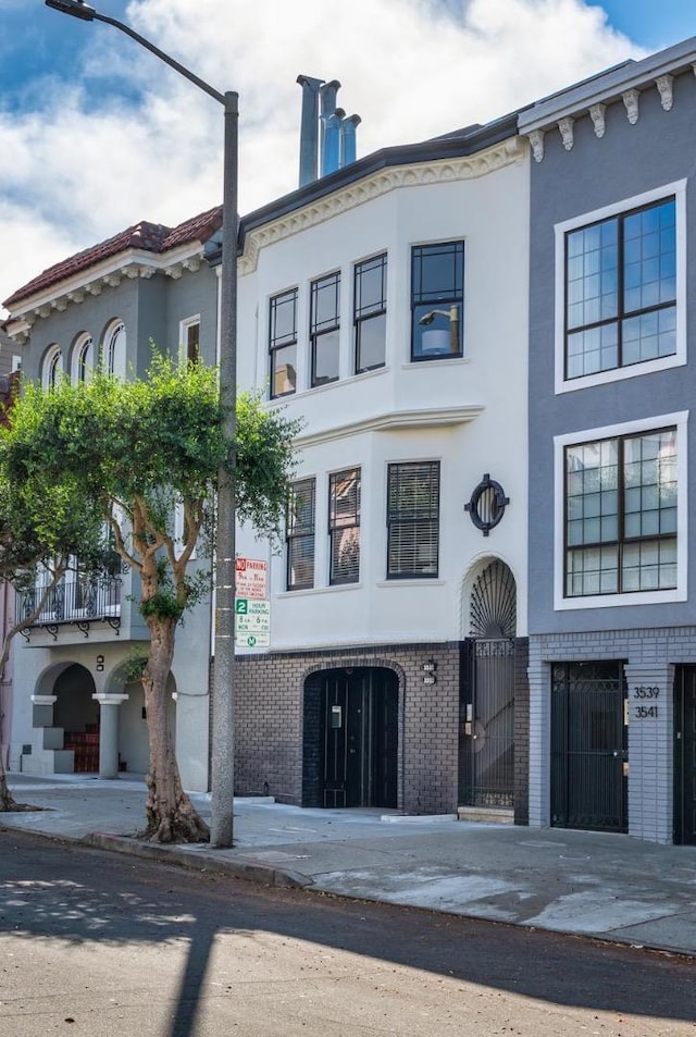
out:
M322 677L323 805L395 807L396 674L375 667Z

